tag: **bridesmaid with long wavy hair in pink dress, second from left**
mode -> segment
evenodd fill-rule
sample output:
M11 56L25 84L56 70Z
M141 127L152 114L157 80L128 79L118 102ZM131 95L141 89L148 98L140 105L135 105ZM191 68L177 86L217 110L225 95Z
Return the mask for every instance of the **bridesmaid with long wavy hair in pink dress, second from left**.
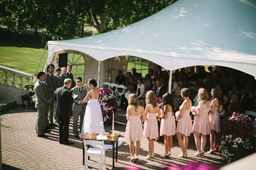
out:
M146 159L154 158L154 140L158 137L158 125L157 117L161 115L160 107L157 104L156 94L154 91L148 91L146 93L146 108L145 108L146 120L144 124L143 135L147 139L149 155Z

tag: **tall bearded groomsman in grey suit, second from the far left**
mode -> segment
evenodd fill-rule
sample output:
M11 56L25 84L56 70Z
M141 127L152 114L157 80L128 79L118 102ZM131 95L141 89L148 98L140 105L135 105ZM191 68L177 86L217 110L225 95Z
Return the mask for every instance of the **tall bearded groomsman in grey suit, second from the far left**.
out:
M49 64L47 66L47 75L46 75L46 85L49 89L50 92L50 98L54 99L55 96L55 80L54 80L54 76L53 76L53 71L54 71L54 65L53 64ZM54 128L55 126L57 126L56 124L53 123L53 112L54 112L54 103L55 101L52 100L52 102L49 105L49 123L48 123L48 127L49 128Z

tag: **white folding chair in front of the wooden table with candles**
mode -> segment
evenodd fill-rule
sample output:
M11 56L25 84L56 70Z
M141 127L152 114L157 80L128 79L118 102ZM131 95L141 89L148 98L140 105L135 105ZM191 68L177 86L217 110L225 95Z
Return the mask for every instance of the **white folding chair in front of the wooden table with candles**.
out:
M84 144L84 169L89 169L88 168L88 163L100 163L100 169L102 169L102 163L105 164L106 168L106 156L105 156L105 148L104 148L104 141L98 141L98 140L84 140L83 139L83 144ZM87 148L87 145L100 145L102 148ZM95 161L89 161L88 156L97 156L100 157L100 162L95 162ZM102 161L104 157L104 162Z

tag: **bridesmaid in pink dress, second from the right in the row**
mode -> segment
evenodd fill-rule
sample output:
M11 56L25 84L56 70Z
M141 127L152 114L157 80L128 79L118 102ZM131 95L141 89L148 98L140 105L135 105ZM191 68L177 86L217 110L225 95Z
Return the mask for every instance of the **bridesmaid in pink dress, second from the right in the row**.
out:
M193 113L195 115L195 120L193 124L193 131L195 136L195 142L197 146L197 153L195 156L203 156L204 155L204 147L207 141L206 135L209 134L209 109L210 102L207 90L204 88L200 88L198 90L198 106L197 113ZM201 139L200 139L201 134Z

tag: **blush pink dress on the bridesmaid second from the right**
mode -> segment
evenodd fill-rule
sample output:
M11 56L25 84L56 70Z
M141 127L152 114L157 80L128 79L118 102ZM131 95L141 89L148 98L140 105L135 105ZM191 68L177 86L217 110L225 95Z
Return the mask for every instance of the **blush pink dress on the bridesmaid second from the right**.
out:
M209 128L209 108L208 109L200 109L199 105L197 106L199 110L200 116L195 116L194 124L193 124L193 131L201 133L202 135L208 135L210 133Z

